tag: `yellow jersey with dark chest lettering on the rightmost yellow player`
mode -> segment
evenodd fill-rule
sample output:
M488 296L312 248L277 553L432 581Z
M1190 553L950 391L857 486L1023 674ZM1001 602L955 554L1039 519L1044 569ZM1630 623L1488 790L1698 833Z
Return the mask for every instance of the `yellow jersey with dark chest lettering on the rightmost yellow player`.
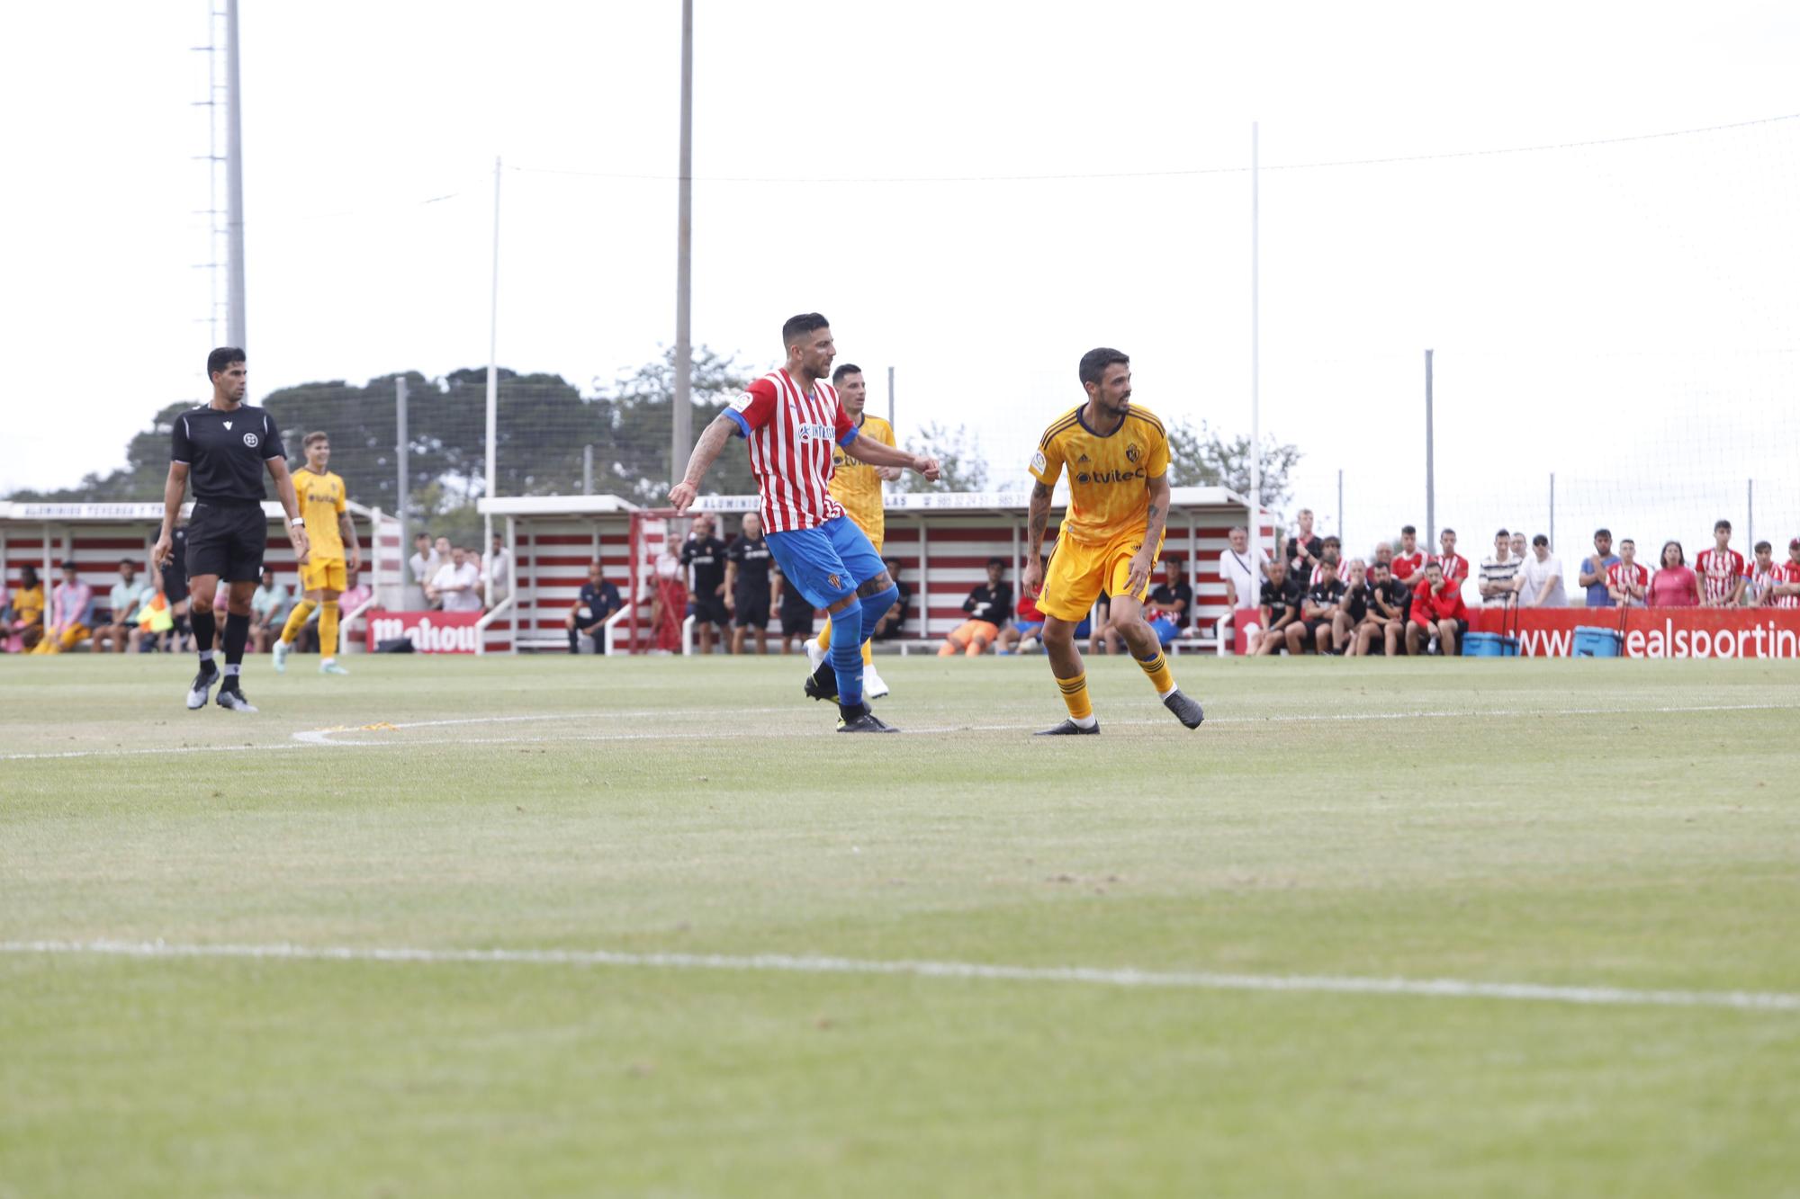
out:
M1071 409L1053 419L1031 455L1031 477L1057 486L1069 468L1069 511L1062 533L1085 545L1105 545L1120 536L1143 535L1150 515L1150 479L1168 473L1168 434L1163 421L1136 405L1107 436L1087 428Z

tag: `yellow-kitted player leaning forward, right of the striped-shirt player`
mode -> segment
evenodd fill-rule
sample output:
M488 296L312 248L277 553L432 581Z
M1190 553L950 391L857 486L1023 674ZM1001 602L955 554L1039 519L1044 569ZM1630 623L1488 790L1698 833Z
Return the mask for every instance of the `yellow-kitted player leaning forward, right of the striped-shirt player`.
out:
M1044 650L1069 718L1039 736L1098 733L1087 700L1087 672L1075 648L1075 627L1100 592L1112 596L1112 627L1181 724L1197 729L1201 706L1175 688L1163 646L1143 619L1156 556L1168 524L1168 434L1163 421L1130 401L1130 358L1116 349L1082 355L1087 403L1044 430L1031 455L1031 515L1024 590L1039 596ZM1069 511L1057 533L1049 567L1042 565L1049 495L1069 472Z

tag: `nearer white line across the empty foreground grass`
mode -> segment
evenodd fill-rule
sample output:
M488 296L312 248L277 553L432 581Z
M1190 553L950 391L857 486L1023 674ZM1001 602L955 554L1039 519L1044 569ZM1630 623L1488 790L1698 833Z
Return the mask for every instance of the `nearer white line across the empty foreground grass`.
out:
M1346 978L1330 974L1211 974L1096 967L1021 967L977 961L875 961L790 954L626 954L605 949L358 949L355 945L180 945L169 942L0 942L7 954L92 954L113 958L257 958L290 961L410 961L425 965L574 965L661 970L774 970L783 974L886 974L1003 983L1089 983L1179 990L1274 990L1337 996L1422 996L1433 999L1514 999L1600 1006L1739 1008L1800 1012L1800 996L1757 990L1633 990L1629 987L1548 987L1476 983L1454 978Z

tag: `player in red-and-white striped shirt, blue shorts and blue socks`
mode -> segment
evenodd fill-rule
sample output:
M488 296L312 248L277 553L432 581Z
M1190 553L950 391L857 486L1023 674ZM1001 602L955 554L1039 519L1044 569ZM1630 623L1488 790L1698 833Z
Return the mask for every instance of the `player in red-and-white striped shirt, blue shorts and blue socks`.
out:
M781 326L787 365L751 383L700 434L688 473L670 488L670 504L688 511L700 479L738 434L751 443L751 470L761 499L769 551L790 587L830 612L832 652L806 679L806 695L835 699L839 733L893 733L862 702L862 643L900 596L869 538L844 515L826 484L832 445L871 466L904 466L938 479L938 459L916 457L857 430L837 400L830 322L815 311Z

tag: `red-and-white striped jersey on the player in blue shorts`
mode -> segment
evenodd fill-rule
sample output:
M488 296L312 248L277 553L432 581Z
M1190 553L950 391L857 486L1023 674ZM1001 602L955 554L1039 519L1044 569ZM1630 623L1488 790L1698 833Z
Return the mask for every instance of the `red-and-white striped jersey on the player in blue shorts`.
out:
M761 497L763 529L815 529L844 515L832 499L832 445L848 446L857 427L821 380L808 396L785 369L770 371L725 412L751 443L751 470Z

